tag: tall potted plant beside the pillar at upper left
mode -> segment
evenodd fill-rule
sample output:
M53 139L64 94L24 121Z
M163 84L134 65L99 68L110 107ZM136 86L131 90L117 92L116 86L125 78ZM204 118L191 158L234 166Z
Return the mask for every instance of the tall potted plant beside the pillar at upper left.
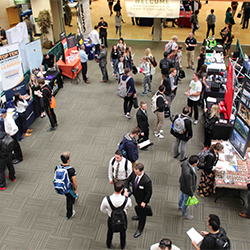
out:
M52 42L48 39L49 28L51 27L51 15L49 10L39 11L37 24L43 34L45 42L43 43L44 48L50 49L52 48Z

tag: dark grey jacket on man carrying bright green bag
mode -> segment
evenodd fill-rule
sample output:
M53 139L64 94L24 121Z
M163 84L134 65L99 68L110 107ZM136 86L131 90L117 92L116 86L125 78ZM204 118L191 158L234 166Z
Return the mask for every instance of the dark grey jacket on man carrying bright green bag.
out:
M188 161L181 164L180 190L182 193L193 196L197 188L197 176Z

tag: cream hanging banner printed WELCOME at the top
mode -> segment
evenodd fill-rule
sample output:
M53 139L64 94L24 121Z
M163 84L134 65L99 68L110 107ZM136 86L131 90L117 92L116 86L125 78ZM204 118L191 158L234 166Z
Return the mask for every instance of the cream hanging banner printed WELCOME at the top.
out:
M178 18L179 0L125 0L129 17Z

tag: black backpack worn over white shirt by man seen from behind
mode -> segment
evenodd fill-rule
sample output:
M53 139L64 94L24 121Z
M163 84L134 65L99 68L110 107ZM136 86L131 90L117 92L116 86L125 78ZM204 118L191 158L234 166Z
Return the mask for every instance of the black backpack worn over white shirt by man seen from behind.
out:
M107 200L112 209L110 217L112 231L114 233L125 231L127 229L127 215L123 209L127 204L128 197L125 197L125 201L120 207L114 207L109 196L107 196Z

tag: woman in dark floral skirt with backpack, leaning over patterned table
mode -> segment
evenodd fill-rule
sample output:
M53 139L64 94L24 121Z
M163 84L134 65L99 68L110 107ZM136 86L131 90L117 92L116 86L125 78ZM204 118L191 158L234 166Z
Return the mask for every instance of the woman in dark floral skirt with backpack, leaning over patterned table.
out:
M199 163L197 167L202 169L200 183L197 192L201 197L209 196L214 190L214 168L219 160L219 153L223 150L221 143L216 143L210 149L202 151L199 156ZM220 169L220 166L216 167Z

